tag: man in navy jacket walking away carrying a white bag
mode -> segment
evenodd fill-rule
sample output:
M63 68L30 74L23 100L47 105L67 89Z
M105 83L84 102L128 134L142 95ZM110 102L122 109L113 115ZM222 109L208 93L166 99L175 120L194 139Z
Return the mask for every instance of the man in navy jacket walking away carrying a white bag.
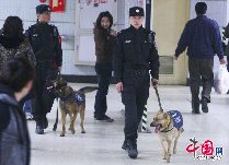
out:
M196 19L188 21L179 40L175 58L179 58L187 47L190 87L192 93L192 113L199 114L199 103L203 113L208 113L213 86L214 56L217 54L220 63L226 63L222 52L222 42L216 21L205 14L207 4L198 2L195 5ZM203 83L202 99L199 101L199 84Z

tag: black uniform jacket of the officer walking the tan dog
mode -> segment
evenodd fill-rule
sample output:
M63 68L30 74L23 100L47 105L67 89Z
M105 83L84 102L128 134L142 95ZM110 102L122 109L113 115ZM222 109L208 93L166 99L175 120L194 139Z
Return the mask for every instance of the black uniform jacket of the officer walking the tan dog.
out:
M154 33L142 26L123 30L117 35L114 52L114 79L123 81L125 70L150 70L152 79L159 79L159 55Z

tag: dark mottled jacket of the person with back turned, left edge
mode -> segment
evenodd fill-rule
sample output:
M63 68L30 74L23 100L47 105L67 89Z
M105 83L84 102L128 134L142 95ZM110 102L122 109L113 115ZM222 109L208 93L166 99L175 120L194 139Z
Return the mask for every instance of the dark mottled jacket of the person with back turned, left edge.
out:
M32 66L36 64L31 44L26 38L8 37L0 33L0 69L5 61L13 58L25 58Z

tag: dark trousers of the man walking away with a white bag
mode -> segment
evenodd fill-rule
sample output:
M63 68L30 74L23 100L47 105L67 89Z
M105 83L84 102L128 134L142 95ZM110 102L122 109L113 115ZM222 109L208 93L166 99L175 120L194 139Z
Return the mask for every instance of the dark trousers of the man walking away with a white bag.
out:
M199 103L199 85L203 83L202 98L207 98L210 103L210 92L214 82L214 58L190 58L190 87L192 93L192 103Z

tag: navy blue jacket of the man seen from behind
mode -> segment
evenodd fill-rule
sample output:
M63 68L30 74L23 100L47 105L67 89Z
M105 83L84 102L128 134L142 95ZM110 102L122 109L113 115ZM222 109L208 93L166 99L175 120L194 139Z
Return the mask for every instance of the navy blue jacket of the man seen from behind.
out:
M216 21L206 15L198 15L188 21L179 40L175 56L179 57L187 47L191 58L211 58L216 54L224 58L222 42Z

